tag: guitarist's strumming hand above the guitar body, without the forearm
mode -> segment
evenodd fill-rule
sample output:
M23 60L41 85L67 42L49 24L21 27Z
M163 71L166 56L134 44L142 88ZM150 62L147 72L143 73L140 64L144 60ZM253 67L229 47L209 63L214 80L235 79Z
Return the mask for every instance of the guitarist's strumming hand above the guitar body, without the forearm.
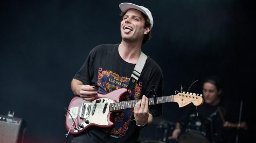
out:
M86 101L93 101L95 99L95 96L97 95L97 92L95 91L95 86L80 85L78 88L80 88L79 96L82 99Z

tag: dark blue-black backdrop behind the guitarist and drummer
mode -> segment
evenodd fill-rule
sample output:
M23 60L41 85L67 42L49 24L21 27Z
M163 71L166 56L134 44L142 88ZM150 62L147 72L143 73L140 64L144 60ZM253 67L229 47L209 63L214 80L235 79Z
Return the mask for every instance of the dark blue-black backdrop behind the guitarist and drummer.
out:
M238 106L243 100L242 116L250 117L252 129L250 1L1 1L0 115L15 111L24 119L24 142L65 142L70 82L93 47L121 42L121 2L143 5L153 14L153 37L142 50L162 67L164 95L174 95L181 85L187 91L195 80L190 91L202 94L202 80L215 74L223 80L224 99ZM175 122L184 110L177 103L163 107L153 126Z

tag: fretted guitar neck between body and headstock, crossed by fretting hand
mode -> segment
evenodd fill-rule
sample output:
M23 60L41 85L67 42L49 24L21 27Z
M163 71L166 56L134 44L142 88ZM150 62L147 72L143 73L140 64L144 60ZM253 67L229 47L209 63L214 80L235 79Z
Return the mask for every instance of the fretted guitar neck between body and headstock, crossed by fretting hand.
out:
M174 102L174 96L175 95L156 97L156 101L154 101L154 98L149 98L148 103L149 105L153 105L155 102L156 104ZM109 111L117 111L122 109L134 108L135 104L139 101L141 101L141 99L110 103Z

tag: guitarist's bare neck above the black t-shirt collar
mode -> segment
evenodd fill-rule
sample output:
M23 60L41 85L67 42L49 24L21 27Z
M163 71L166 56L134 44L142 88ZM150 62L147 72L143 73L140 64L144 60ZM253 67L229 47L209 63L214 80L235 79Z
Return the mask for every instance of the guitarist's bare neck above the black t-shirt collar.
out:
M118 51L124 61L136 64L141 54L141 44L122 41Z

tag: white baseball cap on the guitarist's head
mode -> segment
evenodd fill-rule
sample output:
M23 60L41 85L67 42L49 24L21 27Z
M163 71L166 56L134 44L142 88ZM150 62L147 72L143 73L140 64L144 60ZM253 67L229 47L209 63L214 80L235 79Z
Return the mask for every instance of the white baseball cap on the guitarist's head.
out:
M142 13L146 14L146 16L148 16L148 18L149 18L150 29L152 29L153 23L154 23L153 17L152 17L151 12L146 7L132 4L132 3L121 3L121 4L119 4L119 7L122 12L126 12L129 9L136 9L136 10L139 10Z

